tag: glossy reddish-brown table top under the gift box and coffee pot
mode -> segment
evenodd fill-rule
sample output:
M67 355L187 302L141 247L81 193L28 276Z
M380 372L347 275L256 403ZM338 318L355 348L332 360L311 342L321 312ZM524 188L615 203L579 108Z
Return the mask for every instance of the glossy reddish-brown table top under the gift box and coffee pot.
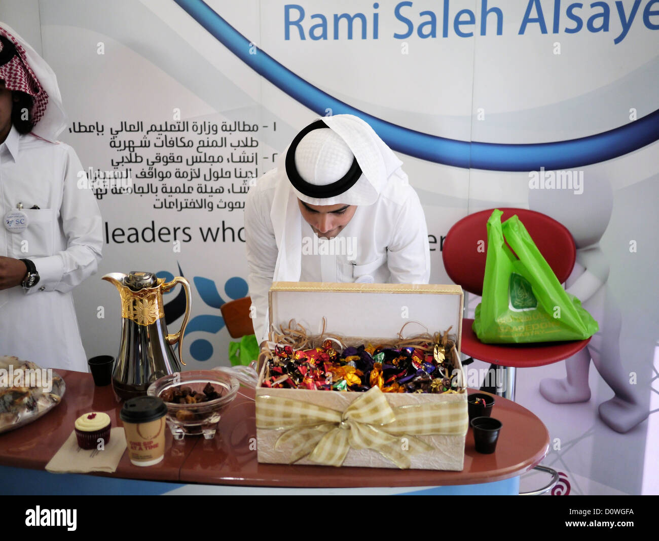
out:
M119 419L120 404L111 386L94 387L88 373L57 372L67 385L61 404L31 424L0 434L0 464L45 468L71 434L76 418L88 411L107 412L112 426L123 426ZM469 392L478 391L469 389ZM470 429L465 443L465 468L461 472L259 464L254 443L254 391L241 388L223 412L214 439L186 437L176 441L167 430L165 459L159 464L146 468L133 466L128 453L124 453L115 473L98 475L239 486L442 486L500 481L539 464L549 446L549 434L540 419L501 397L496 397L492 413L503 423L496 452L476 453Z

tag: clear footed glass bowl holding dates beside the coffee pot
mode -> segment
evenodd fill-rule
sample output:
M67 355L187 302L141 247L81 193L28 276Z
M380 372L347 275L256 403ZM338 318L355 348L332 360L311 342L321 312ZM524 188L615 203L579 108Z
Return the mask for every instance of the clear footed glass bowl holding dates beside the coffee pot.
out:
M189 435L204 435L206 439L215 436L217 422L219 422L222 408L231 403L236 397L240 384L235 377L217 370L190 370L166 375L152 383L147 395L160 397L173 387L190 387L192 391L201 392L210 383L219 398L200 402L199 404L167 404L167 426L174 439L183 439Z

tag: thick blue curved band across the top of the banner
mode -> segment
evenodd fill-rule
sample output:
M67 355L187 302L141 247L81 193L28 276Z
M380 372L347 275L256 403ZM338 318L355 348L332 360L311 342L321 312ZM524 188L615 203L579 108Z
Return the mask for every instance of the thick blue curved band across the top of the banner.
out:
M393 150L422 160L492 171L571 169L623 156L659 139L659 110L615 129L554 143L505 144L457 141L421 133L351 107L295 75L262 49L250 55L250 41L202 0L174 0L229 51L256 73L310 110L349 113L367 121Z

